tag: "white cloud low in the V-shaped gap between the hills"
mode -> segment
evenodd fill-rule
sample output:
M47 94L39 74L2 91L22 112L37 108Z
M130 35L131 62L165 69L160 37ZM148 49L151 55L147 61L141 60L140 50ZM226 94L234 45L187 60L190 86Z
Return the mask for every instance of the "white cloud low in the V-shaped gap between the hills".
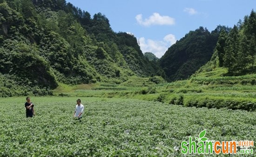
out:
M143 53L152 52L156 57L161 58L168 48L175 44L176 39L173 34L168 34L162 41L155 41L152 39L139 38L140 47Z

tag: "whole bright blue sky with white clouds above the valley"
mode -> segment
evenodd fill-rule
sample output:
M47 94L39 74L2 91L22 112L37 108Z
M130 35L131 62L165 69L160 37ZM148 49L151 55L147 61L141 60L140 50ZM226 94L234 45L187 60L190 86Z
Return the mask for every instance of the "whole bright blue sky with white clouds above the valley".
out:
M176 40L199 26L233 27L256 11L256 0L66 0L88 11L101 12L115 32L134 34L142 52L162 57Z

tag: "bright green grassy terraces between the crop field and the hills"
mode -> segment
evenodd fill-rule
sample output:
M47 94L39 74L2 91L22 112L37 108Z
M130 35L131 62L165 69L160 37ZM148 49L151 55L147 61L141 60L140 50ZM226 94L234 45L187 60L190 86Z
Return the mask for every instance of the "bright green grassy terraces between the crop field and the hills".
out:
M121 84L108 82L74 87L61 85L60 88L54 90L54 94L57 96L133 98L164 103L179 102L179 105L184 106L256 110L253 105L256 104L256 74L223 76L225 72L227 72L225 68L202 70L196 72L189 80L160 84L150 82L149 78L132 76ZM181 95L183 103L175 100Z

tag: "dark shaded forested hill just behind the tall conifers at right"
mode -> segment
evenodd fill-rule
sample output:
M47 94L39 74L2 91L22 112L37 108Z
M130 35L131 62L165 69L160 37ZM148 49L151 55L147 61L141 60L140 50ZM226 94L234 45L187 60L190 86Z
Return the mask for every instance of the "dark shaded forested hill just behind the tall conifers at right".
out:
M172 45L159 60L168 81L187 79L207 63L222 28L229 30L225 26L217 26L214 31L209 32L206 28L199 27Z

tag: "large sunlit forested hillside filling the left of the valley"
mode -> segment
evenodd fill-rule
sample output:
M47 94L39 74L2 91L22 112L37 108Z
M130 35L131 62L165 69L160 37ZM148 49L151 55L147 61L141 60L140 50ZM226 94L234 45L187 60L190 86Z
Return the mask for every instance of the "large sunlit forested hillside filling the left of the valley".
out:
M65 0L0 0L0 27L0 90L9 96L156 75L134 36Z

